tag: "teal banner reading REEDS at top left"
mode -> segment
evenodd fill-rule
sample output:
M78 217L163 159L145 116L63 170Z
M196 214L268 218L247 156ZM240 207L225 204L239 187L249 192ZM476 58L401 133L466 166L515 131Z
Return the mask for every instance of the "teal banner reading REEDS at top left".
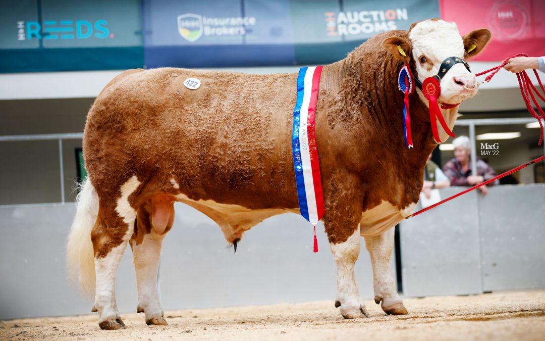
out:
M0 6L0 72L144 64L138 0L20 0Z

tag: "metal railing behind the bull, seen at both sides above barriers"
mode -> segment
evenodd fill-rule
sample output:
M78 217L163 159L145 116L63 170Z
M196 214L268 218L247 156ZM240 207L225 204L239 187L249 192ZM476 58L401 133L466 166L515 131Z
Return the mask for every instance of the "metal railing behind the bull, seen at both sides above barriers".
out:
M479 118L479 119L457 119L455 125L464 125L469 127L469 139L473 143L471 148L471 172L477 174L476 170L476 125L502 125L502 124L526 124L536 122L535 118ZM63 140L83 139L83 133L64 133L64 134L36 134L36 135L5 135L0 136L0 142L3 141L47 141L58 140L59 142L59 171L60 171L60 195L61 202L64 204L64 167L63 167ZM543 143L543 153L545 154L545 142Z

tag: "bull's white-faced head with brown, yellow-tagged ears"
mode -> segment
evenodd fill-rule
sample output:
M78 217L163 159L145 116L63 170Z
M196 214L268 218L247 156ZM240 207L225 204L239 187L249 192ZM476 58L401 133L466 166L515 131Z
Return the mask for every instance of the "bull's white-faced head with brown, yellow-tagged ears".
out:
M486 46L491 37L488 29L477 29L461 37L455 23L431 19L411 25L408 37L390 37L382 45L404 64L410 64L417 83L428 77L437 79L440 103L455 105L477 93L475 75L469 71L465 60L478 55ZM450 57L453 58L449 61ZM423 93L420 90L418 93L428 105ZM445 117L450 129L454 125L456 111L451 110ZM446 134L441 129L439 131L444 141Z

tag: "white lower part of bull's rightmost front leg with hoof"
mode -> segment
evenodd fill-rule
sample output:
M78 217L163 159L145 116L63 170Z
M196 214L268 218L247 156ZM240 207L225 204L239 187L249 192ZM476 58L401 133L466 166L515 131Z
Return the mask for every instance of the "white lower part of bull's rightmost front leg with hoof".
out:
M365 246L371 256L375 302L382 302L382 310L388 315L406 315L401 297L397 294L390 270L394 230L389 229L378 236L366 236Z

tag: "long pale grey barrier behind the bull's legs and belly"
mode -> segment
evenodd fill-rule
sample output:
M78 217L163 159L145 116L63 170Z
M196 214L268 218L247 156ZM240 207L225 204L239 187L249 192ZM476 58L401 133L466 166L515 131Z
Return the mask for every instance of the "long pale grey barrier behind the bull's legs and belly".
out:
M65 272L65 242L74 214L74 204L0 207L0 319L90 312L92 301L78 292ZM316 231L319 252L314 254L312 226L296 214L282 214L246 232L233 254L219 226L177 203L174 226L161 252L163 306L185 309L331 300L335 309L335 262L321 223ZM356 279L361 296L372 298L370 258L363 240L361 244ZM136 311L130 247L117 272L116 297L120 312Z

